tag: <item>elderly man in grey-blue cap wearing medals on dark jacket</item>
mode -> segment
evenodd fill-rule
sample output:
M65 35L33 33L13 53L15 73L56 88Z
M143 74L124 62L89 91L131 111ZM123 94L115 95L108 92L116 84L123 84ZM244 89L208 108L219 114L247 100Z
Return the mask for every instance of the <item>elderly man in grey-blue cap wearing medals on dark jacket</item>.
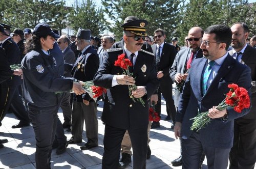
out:
M73 65L71 74L80 81L93 80L95 73L99 68L99 57L97 52L90 45L90 30L82 30L79 28L76 35L77 49L81 50L75 64ZM98 146L98 120L97 120L97 104L88 93L83 95L74 94L73 111L71 117L71 134L68 140L69 144L77 144L82 142L83 123L86 123L87 143L80 147L81 150L88 150Z

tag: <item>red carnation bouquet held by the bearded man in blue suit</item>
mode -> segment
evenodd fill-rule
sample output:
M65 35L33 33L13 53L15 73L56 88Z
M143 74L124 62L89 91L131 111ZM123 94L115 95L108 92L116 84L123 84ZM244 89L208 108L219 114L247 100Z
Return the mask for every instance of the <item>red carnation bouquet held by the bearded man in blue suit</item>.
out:
M244 108L250 107L250 97L246 89L238 87L236 84L228 85L228 88L230 88L230 90L226 94L226 98L216 107L216 109L223 110L231 107L240 113ZM204 125L210 123L211 119L207 116L208 114L209 111L205 111L198 114L197 117L190 119L194 120L190 129L199 131Z

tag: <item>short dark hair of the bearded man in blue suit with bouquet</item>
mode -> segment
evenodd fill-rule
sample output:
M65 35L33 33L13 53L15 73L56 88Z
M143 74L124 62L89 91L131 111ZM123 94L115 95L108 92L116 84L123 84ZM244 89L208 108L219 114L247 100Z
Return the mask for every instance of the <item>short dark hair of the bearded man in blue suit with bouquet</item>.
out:
M217 42L226 43L226 50L228 50L229 45L232 40L232 31L230 27L227 27L222 24L211 25L207 27L204 31L205 34L215 34L215 40Z

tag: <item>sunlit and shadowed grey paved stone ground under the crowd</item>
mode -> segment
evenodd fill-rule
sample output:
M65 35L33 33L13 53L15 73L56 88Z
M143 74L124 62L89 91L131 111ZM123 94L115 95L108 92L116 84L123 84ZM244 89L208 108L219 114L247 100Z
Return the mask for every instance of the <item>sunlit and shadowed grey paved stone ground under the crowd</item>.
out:
M165 102L162 100L162 119L166 117ZM98 122L99 122L99 147L91 150L81 151L86 139L85 128L83 132L83 143L78 145L69 145L67 152L56 155L55 150L52 152L51 165L52 168L101 168L101 160L103 155L103 136L104 125L100 120L102 113L102 102L98 106ZM58 116L63 122L61 109ZM35 168L35 137L32 126L22 129L12 129L11 126L16 124L18 120L13 114L7 114L0 127L0 138L7 138L8 143L4 144L5 148L0 149L0 168L30 169ZM171 121L160 121L160 128L152 129L150 133L152 150L151 158L147 160L146 168L181 168L174 167L171 161L180 155L180 143L174 137L174 131L170 129ZM68 139L71 133L65 133ZM129 167L132 168L132 163ZM206 160L203 163L203 169L206 169Z

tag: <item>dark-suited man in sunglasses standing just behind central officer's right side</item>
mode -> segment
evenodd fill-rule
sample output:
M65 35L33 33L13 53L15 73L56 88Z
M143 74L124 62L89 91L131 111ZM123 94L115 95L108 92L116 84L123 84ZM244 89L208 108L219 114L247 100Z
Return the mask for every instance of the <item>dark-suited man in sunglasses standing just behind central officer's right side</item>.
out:
M156 59L157 78L160 82L158 89L158 101L155 106L155 110L158 116L161 117L161 94L166 101L167 117L164 120L170 120L172 117L173 124L175 124L176 107L173 100L173 80L169 76L169 69L172 67L176 55L176 49L173 45L165 43L165 33L162 29L157 29L154 32L154 38L157 44L152 46L153 53ZM151 128L160 127L159 122L153 122Z

